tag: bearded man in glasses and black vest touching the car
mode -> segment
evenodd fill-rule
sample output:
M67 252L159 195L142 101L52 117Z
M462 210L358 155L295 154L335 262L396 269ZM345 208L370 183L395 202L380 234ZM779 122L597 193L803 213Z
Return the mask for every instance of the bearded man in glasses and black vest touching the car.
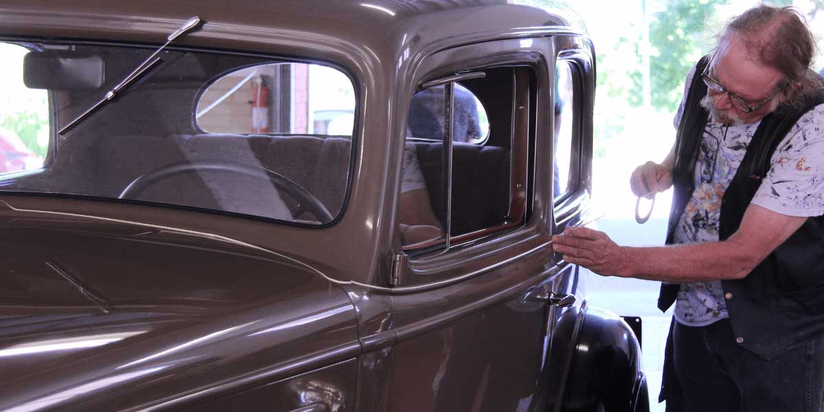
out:
M824 392L824 93L791 8L731 21L688 75L676 145L630 186L674 186L664 247L602 232L554 237L564 260L663 282L676 303L661 400L669 411L821 411Z

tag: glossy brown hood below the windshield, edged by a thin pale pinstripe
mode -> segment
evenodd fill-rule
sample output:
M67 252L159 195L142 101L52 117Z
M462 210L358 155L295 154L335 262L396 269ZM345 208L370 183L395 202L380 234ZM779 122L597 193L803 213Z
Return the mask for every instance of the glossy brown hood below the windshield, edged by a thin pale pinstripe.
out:
M185 404L357 356L349 298L283 256L9 208L0 234L2 410Z

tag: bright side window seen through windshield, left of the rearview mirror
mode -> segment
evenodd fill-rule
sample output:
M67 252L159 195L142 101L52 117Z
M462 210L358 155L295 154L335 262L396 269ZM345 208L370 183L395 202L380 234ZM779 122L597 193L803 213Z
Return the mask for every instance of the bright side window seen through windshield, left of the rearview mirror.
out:
M0 174L38 170L49 151L49 95L24 83L28 51L0 43Z

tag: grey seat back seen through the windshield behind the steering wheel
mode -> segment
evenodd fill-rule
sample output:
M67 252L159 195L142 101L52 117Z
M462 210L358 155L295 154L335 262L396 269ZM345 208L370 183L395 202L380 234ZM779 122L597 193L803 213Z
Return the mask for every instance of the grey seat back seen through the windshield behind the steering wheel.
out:
M116 140L115 140L116 139ZM336 216L344 203L349 173L349 138L303 135L178 134L164 138L117 137L101 145L104 195L119 194L130 182L162 166L215 161L279 173L314 194ZM222 176L221 176L222 175ZM147 187L139 199L215 208L272 218L272 188L260 179L225 172L186 173ZM285 199L284 199L285 200Z

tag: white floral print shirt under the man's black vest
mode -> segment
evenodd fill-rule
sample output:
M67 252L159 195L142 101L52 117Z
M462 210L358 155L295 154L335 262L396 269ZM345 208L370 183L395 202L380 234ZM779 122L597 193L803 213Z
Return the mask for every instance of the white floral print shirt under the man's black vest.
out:
M695 68L687 77L687 87ZM686 92L685 92L686 99ZM684 101L675 124L680 123ZM726 126L710 119L695 162L695 190L678 222L675 243L719 241L721 198L761 122ZM789 216L824 214L824 105L798 120L775 149L772 167L752 204ZM728 317L720 281L684 283L675 307L683 325L709 325Z

